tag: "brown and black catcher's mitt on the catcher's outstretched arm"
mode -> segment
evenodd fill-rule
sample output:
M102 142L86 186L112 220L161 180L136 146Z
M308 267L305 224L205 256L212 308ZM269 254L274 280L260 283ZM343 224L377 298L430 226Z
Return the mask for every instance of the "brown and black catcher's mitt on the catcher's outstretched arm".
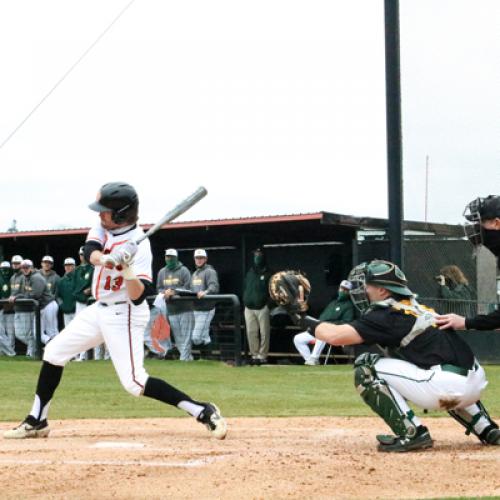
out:
M280 271L269 280L269 295L288 312L305 313L310 293L311 284L299 271Z

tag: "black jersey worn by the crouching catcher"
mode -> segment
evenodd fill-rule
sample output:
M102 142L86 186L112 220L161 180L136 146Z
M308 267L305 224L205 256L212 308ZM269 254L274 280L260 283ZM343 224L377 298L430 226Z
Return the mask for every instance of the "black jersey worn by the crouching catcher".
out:
M374 309L350 325L367 345L379 344L388 347L394 357L403 359L419 368L450 364L470 370L474 365L474 354L470 347L454 330L427 328L406 347L401 340L410 332L416 317L392 307ZM397 348L395 351L394 349Z

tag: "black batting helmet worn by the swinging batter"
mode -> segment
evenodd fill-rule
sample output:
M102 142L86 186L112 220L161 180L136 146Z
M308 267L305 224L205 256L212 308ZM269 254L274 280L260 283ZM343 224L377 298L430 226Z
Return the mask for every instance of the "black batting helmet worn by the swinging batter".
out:
M130 184L109 182L99 189L96 201L89 208L96 212L112 212L116 224L133 224L137 221L139 197Z

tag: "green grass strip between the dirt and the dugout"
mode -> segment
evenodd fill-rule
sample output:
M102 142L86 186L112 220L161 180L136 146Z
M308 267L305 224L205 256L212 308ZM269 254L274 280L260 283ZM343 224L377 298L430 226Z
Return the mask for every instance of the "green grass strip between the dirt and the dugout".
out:
M0 358L0 420L17 421L30 410L40 362ZM262 366L146 361L150 375L163 378L194 399L216 402L228 417L373 416L353 385L352 367ZM500 416L500 366L487 366L483 402ZM184 412L126 393L109 361L69 363L50 417L179 417ZM430 412L429 416L446 413Z

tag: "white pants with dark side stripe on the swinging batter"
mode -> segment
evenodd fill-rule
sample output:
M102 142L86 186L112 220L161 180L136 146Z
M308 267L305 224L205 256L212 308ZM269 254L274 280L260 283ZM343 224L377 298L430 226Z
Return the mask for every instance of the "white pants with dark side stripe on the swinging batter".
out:
M103 342L123 387L140 396L148 379L143 366L143 334L149 320L149 307L144 301L110 304L99 302L88 306L45 348L44 361L64 366L76 354Z

